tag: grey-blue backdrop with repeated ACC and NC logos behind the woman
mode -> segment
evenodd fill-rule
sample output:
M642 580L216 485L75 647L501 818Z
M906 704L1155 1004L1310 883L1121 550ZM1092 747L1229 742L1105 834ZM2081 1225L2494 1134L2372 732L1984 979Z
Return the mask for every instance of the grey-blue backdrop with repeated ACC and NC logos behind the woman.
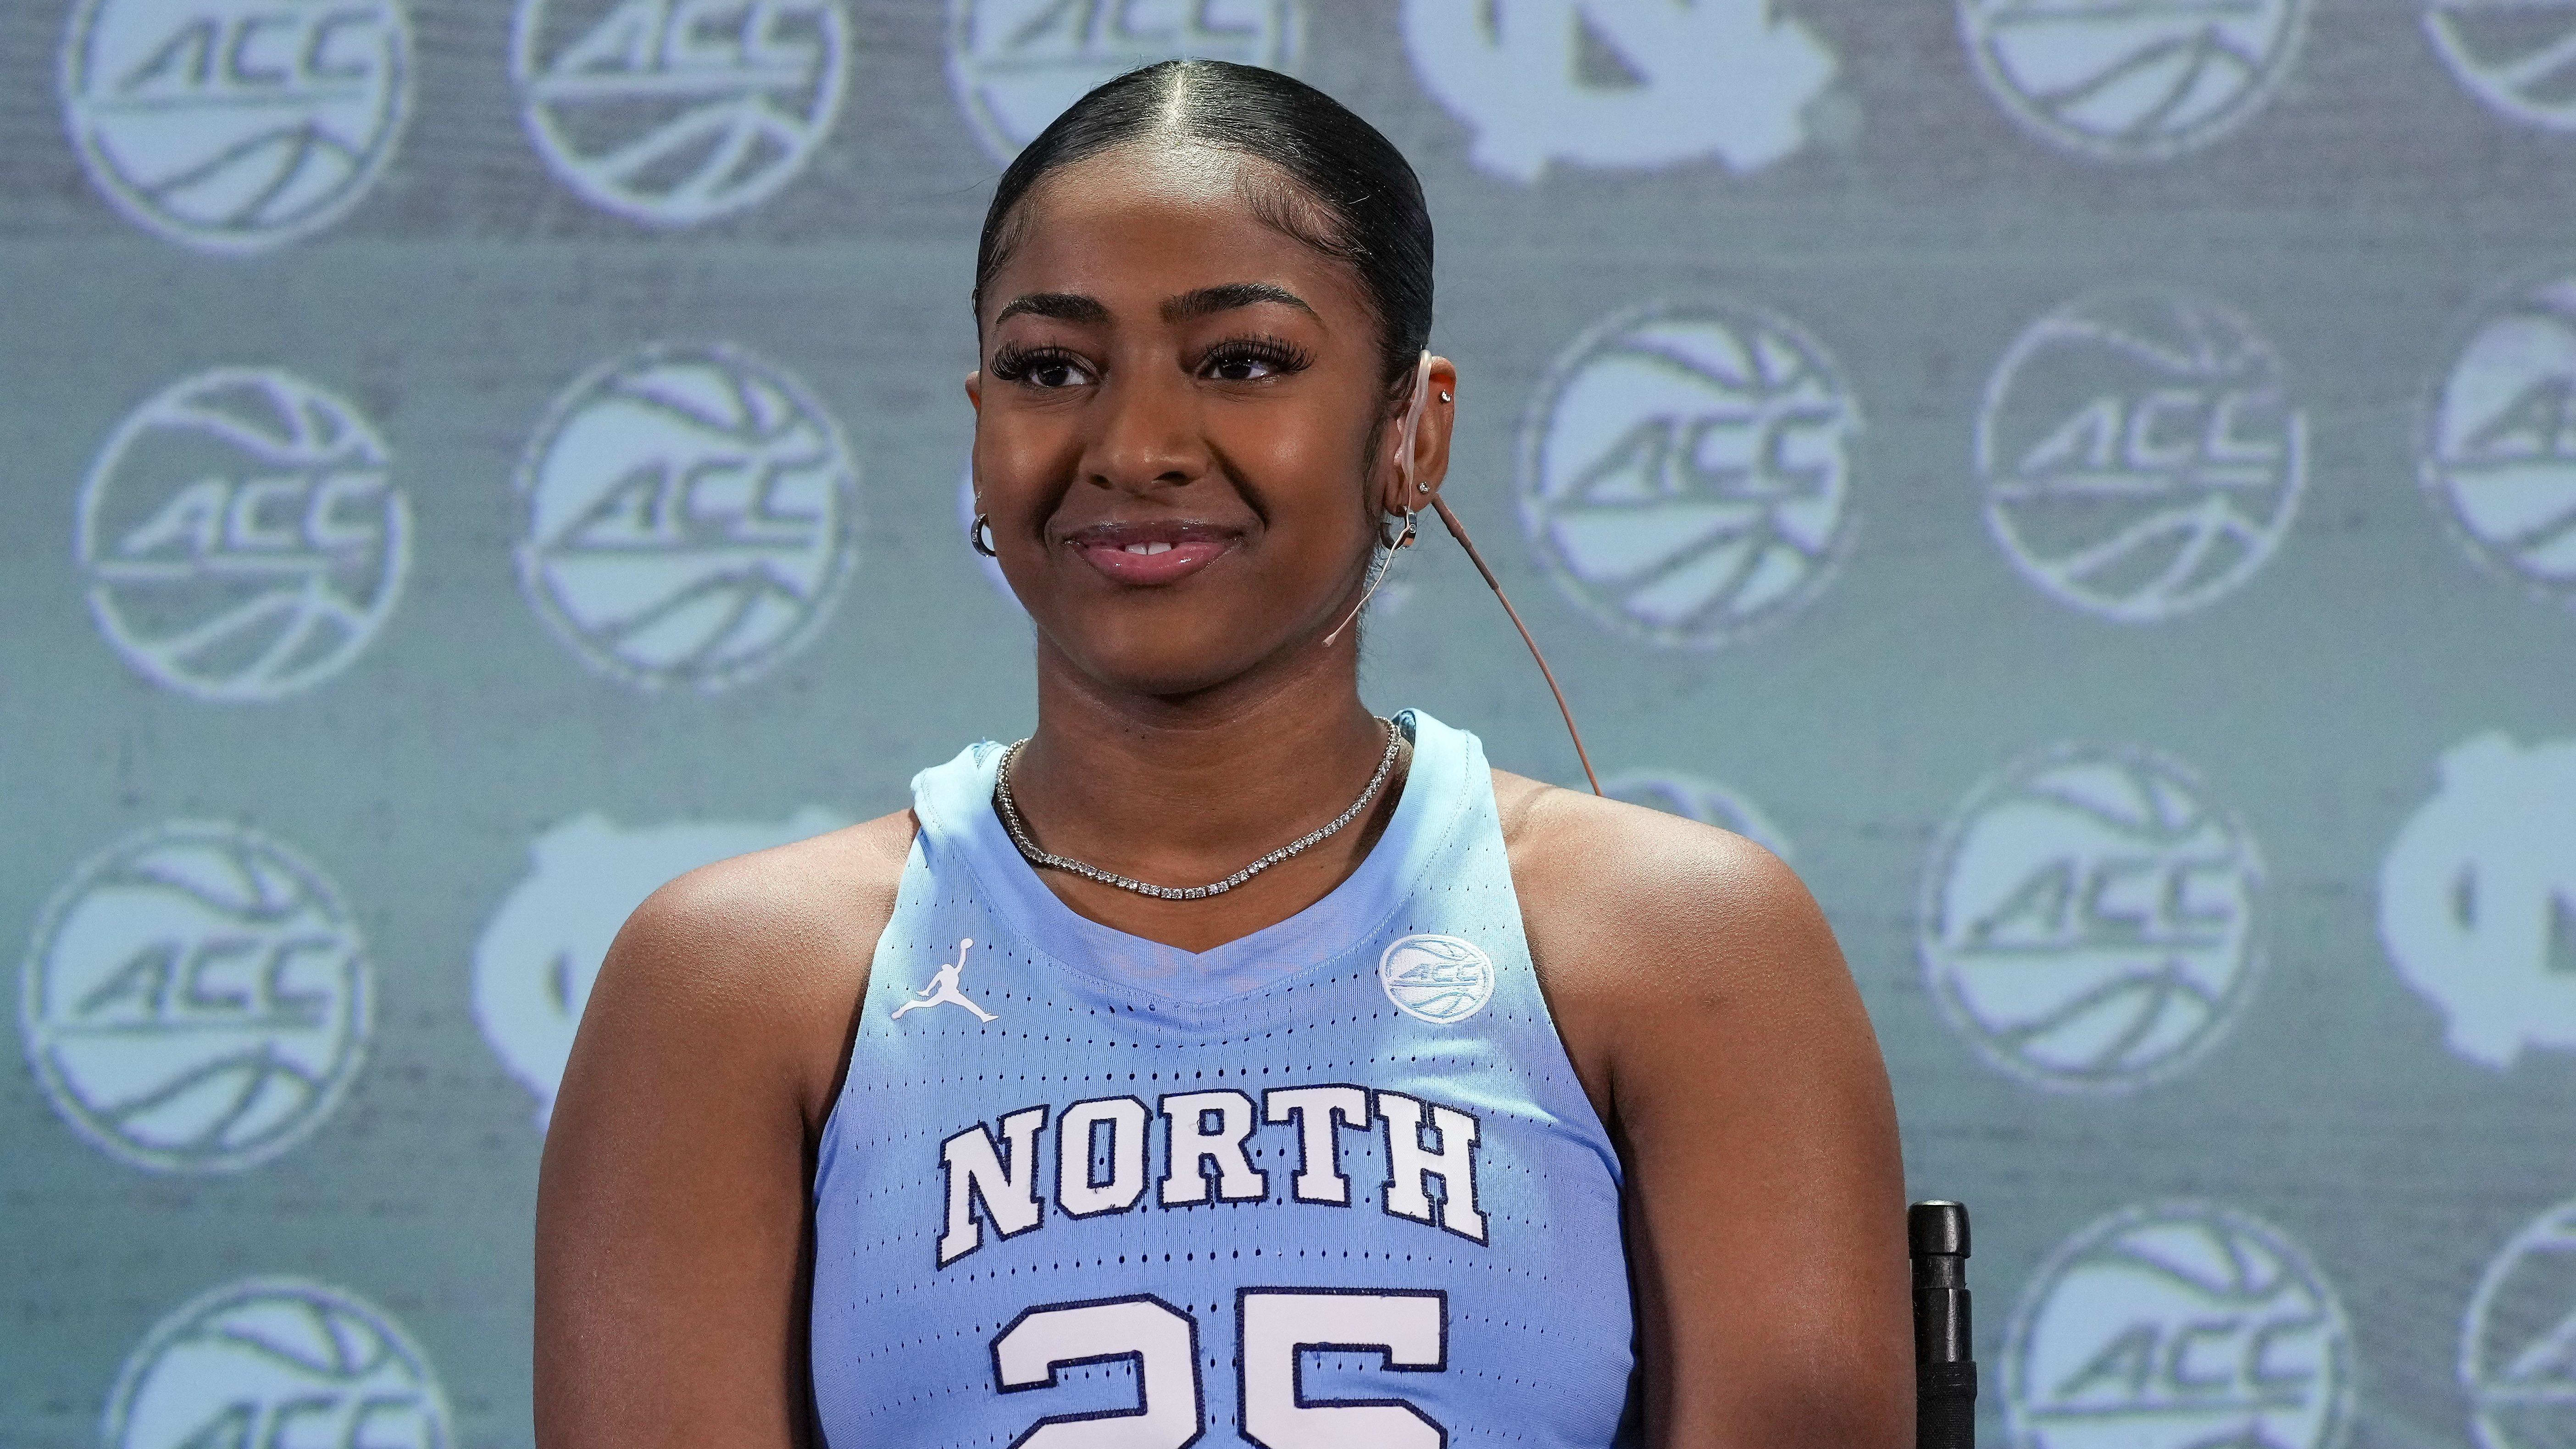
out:
M1989 1436L2576 1441L2571 0L8 5L0 1439L528 1441L623 913L1028 727L974 232L1167 54L1422 168L1450 495L1832 913ZM1368 650L1577 779L1445 541Z

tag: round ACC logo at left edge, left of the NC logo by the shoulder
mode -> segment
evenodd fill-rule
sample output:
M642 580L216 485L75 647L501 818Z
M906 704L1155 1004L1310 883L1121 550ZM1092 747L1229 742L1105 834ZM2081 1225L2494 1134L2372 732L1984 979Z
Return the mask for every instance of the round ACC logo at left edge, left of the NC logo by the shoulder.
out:
M18 990L54 1111L165 1173L247 1168L309 1137L371 1026L340 892L237 825L173 822L85 861L46 902Z

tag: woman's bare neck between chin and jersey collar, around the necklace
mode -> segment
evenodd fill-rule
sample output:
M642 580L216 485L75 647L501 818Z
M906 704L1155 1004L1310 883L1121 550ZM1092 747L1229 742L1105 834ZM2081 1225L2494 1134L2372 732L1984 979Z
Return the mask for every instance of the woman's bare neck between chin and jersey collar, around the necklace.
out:
M1319 657L1298 668L1180 699L1103 691L1043 655L1041 645L1038 730L1010 771L1020 817L1041 848L1149 884L1224 879L1332 822L1386 755L1386 727L1360 704L1352 650L1314 650ZM1092 920L1206 951L1340 884L1383 833L1399 792L1391 773L1340 833L1206 900L1038 874Z

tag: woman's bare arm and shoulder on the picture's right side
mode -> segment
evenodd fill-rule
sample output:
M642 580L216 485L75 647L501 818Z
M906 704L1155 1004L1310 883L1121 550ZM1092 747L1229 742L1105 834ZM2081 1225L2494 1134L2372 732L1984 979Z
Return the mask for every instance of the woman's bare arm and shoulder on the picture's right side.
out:
M1628 1171L1649 1444L1904 1449L1904 1163L1814 897L1723 830L1497 776L1530 951Z

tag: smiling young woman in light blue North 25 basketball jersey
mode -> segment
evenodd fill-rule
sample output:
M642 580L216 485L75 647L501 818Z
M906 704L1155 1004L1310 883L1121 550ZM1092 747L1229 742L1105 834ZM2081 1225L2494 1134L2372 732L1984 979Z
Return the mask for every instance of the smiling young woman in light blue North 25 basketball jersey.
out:
M974 307L1038 727L626 923L538 1441L1909 1444L1896 1116L1806 890L1360 704L1458 394L1404 157L1139 70L1002 175Z

